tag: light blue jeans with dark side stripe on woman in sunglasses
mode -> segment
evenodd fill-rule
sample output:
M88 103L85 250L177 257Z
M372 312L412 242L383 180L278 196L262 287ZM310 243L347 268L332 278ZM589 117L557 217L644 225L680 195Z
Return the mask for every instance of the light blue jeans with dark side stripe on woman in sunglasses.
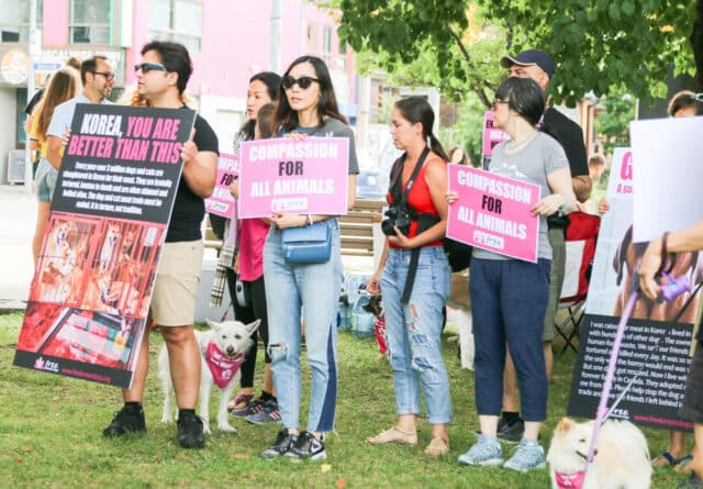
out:
M339 227L328 219L332 256L323 264L288 265L281 230L271 229L264 246L268 305L268 352L283 426L300 427L300 338L305 324L308 364L312 370L308 431L334 430L337 402L336 312L342 289Z

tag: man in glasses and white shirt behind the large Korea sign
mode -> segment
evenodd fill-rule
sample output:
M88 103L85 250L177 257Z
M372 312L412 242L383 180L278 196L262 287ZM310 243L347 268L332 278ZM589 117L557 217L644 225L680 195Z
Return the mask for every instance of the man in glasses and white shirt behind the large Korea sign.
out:
M54 109L52 122L46 131L46 159L58 170L62 165L64 148L63 137L70 129L76 104L78 103L112 103L108 100L112 93L115 74L112 65L104 56L93 56L80 64L80 79L83 91L75 99L64 102Z

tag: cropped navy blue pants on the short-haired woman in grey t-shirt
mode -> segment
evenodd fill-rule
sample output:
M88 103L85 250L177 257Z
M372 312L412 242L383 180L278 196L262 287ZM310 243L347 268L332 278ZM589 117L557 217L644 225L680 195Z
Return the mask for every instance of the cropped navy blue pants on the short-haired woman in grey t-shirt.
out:
M547 418L547 374L542 346L550 262L471 259L471 314L476 407L499 415L503 401L505 343L517 373L525 421Z

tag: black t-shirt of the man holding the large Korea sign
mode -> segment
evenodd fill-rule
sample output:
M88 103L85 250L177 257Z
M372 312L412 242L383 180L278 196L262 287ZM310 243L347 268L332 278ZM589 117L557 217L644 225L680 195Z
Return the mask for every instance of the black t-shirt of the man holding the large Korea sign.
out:
M190 110L190 109L188 109ZM196 115L196 135L193 142L198 146L199 152L214 152L220 154L217 135L210 127L208 121L200 115ZM181 175L176 192L176 202L174 204L174 213L168 224L166 233L166 242L175 243L181 241L202 240L200 231L202 220L205 216L205 201L202 197L193 193L186 179Z

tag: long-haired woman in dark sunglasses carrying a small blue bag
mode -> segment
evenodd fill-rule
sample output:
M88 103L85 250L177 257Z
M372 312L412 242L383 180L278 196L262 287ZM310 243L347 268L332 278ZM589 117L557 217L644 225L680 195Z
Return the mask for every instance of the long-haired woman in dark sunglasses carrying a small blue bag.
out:
M301 56L286 70L274 116L281 135L349 140L347 207L354 205L359 171L354 133L339 113L330 71L315 56ZM332 235L326 263L289 265L283 258L282 230L324 221ZM269 318L269 354L283 429L264 458L326 458L324 434L334 430L337 394L336 304L342 287L339 227L335 215L276 213L264 248L264 276ZM312 387L308 426L300 431L301 323L305 322Z

